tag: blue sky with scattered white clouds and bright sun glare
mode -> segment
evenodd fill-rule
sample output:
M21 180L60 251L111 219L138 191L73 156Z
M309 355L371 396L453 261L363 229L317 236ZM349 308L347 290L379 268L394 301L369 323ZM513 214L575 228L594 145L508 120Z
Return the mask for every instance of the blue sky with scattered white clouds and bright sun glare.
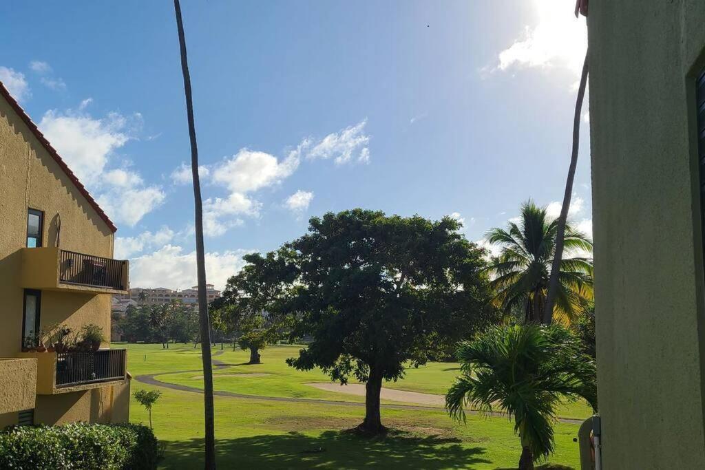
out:
M355 207L560 211L587 47L569 0L182 0L207 279ZM195 285L173 3L0 5L0 81L118 226L132 287ZM572 222L591 234L589 113Z

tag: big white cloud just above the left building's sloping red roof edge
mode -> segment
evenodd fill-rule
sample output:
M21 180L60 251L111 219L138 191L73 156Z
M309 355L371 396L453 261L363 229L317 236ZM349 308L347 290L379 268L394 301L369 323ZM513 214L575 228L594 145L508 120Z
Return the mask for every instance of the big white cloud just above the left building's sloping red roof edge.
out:
M105 118L93 118L83 111L89 103L82 101L79 111L49 110L39 128L81 182L97 194L108 216L134 226L166 198L160 187L145 185L139 173L125 169L125 163L118 163L123 168L110 168L118 149L140 127L142 117L113 112Z

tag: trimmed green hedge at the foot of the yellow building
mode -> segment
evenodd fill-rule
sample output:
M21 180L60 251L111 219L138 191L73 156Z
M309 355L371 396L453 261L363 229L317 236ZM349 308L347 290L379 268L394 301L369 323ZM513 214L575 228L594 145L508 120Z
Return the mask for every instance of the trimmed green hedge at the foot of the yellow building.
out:
M12 426L0 432L0 469L157 468L157 438L138 424Z

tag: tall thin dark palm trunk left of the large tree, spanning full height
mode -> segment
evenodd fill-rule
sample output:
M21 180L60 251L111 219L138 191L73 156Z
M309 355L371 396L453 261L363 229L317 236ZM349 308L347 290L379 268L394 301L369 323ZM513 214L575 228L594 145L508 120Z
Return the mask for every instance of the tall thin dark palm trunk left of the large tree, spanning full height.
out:
M205 469L216 468L215 426L213 420L213 369L211 362L210 321L208 318L208 298L206 294L206 262L203 249L203 205L201 202L201 185L198 178L198 147L196 144L196 127L193 121L193 101L191 97L191 77L188 73L186 58L186 38L183 33L181 6L179 0L174 0L176 12L176 27L181 51L181 70L183 72L183 87L186 96L186 113L188 115L188 135L191 140L191 173L193 176L193 199L195 202L195 232L196 232L196 266L198 278L198 313L201 330L201 357L203 361L203 398L205 414Z

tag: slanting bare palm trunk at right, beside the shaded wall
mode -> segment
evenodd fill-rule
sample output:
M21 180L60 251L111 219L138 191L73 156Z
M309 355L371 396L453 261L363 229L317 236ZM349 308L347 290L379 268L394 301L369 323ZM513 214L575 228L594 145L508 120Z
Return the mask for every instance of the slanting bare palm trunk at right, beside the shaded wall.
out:
M551 278L548 280L548 295L544 305L544 323L553 321L553 303L558 292L558 275L560 274L560 263L563 261L563 237L565 236L565 221L568 219L568 209L570 209L570 197L572 196L573 180L575 180L575 167L577 166L577 152L580 147L580 116L582 114L582 101L585 97L587 87L587 63L589 51L585 52L585 61L582 65L582 75L580 76L580 87L577 90L577 100L575 101L575 116L573 116L573 145L570 156L570 167L568 168L568 180L565 181L565 193L563 194L563 206L560 208L558 216L558 227L556 231L556 252L553 254L551 264Z

